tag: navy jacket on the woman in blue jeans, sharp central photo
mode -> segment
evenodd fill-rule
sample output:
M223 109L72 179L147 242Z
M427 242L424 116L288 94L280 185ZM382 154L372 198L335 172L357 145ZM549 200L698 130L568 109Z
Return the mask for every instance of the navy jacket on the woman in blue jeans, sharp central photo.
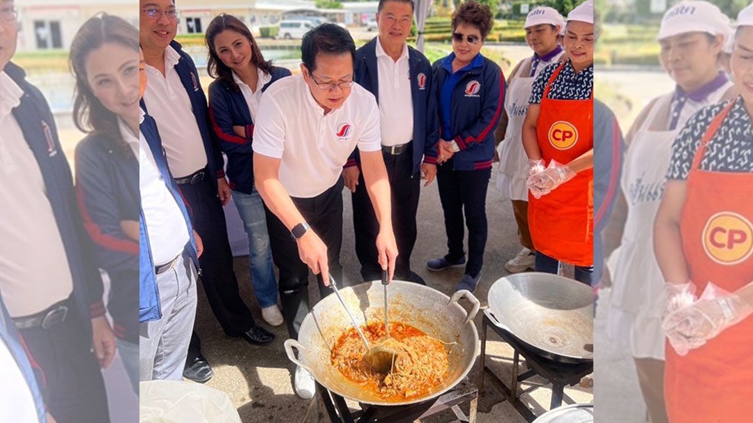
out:
M272 67L272 80L261 91L280 78L290 76L286 68ZM254 122L248 104L240 90L233 90L224 81L217 79L209 84L209 120L221 151L227 155L227 179L230 188L250 194L254 187ZM244 126L245 137L236 135L233 126Z

